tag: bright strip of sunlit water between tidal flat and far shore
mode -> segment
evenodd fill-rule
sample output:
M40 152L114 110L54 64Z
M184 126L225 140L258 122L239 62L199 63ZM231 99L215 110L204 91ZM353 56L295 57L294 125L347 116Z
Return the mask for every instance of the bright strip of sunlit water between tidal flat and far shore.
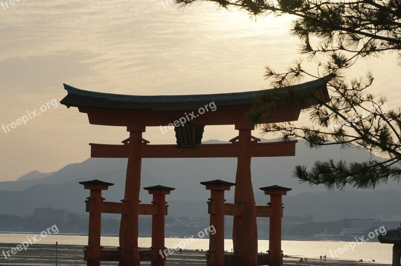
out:
M0 242L2 243L21 243L32 237L35 234L31 233L2 233L0 234ZM38 236L40 236L38 234ZM172 248L174 245L180 245L180 242L185 242L185 238L166 238L165 246ZM59 244L72 244L72 245L86 245L88 243L88 237L84 235L48 235L46 238L38 241L38 244L54 244L56 241ZM139 237L139 246L150 247L150 237ZM188 241L187 241L188 242ZM118 246L118 237L116 236L102 236L101 244L103 246ZM344 247L347 242L340 241L289 241L284 240L282 242L282 249L284 254L291 256L302 256L309 258L318 258L320 255L327 255L327 259L350 259L369 261L374 259L379 263L391 264L391 244L380 244L378 242L366 242L356 246L355 249L344 251L338 257L333 258L330 255L330 250L337 250L338 248ZM209 246L209 239L205 238L194 238L193 241L189 241L183 249L204 249L207 250ZM269 249L269 240L258 241L259 250L258 252L266 252ZM233 247L233 241L231 239L225 240L225 249L231 252ZM333 252L332 252L333 253Z

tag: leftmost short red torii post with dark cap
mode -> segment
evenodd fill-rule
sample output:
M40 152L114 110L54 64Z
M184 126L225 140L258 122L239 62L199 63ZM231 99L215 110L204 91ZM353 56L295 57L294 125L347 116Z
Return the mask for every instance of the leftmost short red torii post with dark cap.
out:
M85 247L85 259L87 266L100 266L100 233L102 220L102 190L107 190L114 184L100 180L79 182L85 189L90 189L90 196L85 202L92 203L93 208L89 211L88 246ZM88 206L88 204L87 204ZM89 208L87 207L87 210Z

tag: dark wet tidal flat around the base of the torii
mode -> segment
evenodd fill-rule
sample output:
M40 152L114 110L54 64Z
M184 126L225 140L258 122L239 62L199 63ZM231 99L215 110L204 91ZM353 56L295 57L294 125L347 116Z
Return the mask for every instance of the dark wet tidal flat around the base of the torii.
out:
M0 252L3 250L7 251L11 248L16 247L14 243L0 243ZM85 266L84 261L84 245L70 245L70 244L59 244L58 245L58 265L74 265L74 266ZM104 249L115 249L114 246L105 246ZM141 248L148 249L148 248ZM230 252L229 252L230 253ZM330 259L326 261L320 260L319 258L308 258L307 261L299 261L301 257L287 256L283 258L283 264L288 266L312 266L312 265L342 265L342 266L356 266L356 265L379 265L379 266L391 266L391 264L384 264L378 262L359 262L357 260L349 259ZM14 266L28 266L28 265L41 265L41 266L53 266L56 262L56 244L33 244L27 248L22 249L16 254L11 255L9 258L5 258L4 254L0 253L0 265L14 265ZM102 266L117 265L118 262L107 262L102 261ZM167 255L165 264L167 266L206 266L206 251L195 251L184 249L182 253L174 252ZM149 261L141 262L141 265L150 265Z

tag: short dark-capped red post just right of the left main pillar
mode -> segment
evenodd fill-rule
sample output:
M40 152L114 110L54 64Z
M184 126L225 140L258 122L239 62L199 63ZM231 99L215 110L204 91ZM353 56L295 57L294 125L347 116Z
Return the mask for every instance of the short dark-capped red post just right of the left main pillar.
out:
M165 253L162 255L164 246L164 216L167 215L167 205L165 201L166 194L170 194L175 188L167 186L149 186L144 187L149 194L153 195L152 203L157 206L157 214L152 215L152 250L157 253L156 260L152 260L151 266L164 266Z

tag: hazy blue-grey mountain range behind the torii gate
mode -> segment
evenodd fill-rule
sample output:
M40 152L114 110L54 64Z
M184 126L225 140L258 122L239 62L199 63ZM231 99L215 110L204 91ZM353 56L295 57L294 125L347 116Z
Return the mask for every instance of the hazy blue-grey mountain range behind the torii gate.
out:
M272 140L263 140L272 141ZM211 140L203 143L225 143ZM285 215L311 214L315 221L339 220L342 218L368 218L401 220L401 184L388 183L375 190L356 190L347 187L345 191L327 191L324 186L310 186L299 183L292 177L295 165L311 166L317 160L328 159L363 161L372 157L365 150L352 147L340 149L338 145L321 149L309 149L304 141L296 146L296 156L252 159L252 180L255 199L258 204L266 204L268 196L259 187L281 185L293 188L284 197ZM198 159L143 159L141 187L166 185L176 188L166 196L169 215L206 216L206 202L209 191L199 182L222 179L235 182L235 158ZM115 185L104 191L107 201L123 198L127 159L89 158L81 163L70 164L53 173L34 171L16 181L0 182L0 214L26 216L34 208L53 205L72 212L84 213L84 200L89 195L79 181L99 179ZM233 202L234 188L226 192L227 202ZM151 201L145 190L141 191L143 203Z

